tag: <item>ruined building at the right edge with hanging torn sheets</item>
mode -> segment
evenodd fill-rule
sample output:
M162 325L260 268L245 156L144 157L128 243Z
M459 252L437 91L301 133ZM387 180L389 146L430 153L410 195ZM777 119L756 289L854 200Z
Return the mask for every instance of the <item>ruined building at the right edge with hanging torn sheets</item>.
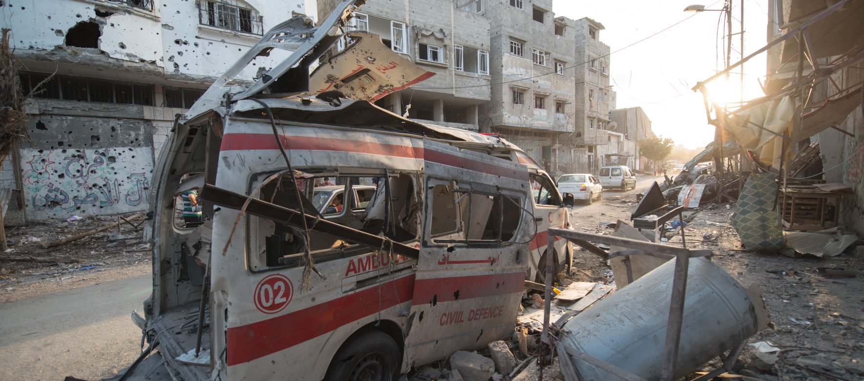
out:
M808 161L809 168L797 177L808 183L851 187L839 205L824 209L839 213L840 224L860 234L864 232L864 0L770 0L769 10L766 99L788 94L801 107L787 155L815 151L815 160ZM789 175L786 181L801 180Z

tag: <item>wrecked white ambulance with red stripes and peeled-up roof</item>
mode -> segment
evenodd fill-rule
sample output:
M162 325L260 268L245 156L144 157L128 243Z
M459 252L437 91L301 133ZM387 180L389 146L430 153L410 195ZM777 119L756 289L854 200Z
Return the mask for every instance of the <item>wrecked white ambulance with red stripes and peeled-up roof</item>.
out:
M277 25L178 117L145 229L153 294L132 316L148 346L121 379L397 378L509 336L525 281L569 265L546 230L569 227L572 196L530 156L367 101L431 73L340 35L358 3ZM289 57L232 85L275 48ZM330 181L345 190L320 212ZM189 192L200 205L181 207Z

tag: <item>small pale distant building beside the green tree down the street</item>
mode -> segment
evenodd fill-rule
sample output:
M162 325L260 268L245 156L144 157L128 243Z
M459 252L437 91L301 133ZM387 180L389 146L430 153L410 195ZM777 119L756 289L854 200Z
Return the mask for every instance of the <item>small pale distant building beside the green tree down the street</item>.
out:
M626 165L633 169L645 170L645 160L642 158L639 142L645 137L651 137L651 119L642 107L630 107L610 111L612 122L607 128L614 143L608 144L610 152L603 156L604 165Z

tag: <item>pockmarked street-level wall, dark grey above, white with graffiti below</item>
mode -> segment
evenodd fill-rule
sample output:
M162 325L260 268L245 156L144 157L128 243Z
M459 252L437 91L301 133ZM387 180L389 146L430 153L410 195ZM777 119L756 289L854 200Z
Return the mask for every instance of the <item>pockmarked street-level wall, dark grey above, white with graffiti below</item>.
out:
M43 112L30 120L33 143L20 156L28 218L145 209L153 172L150 121L133 105L74 104L42 100ZM71 106L76 111L63 115Z

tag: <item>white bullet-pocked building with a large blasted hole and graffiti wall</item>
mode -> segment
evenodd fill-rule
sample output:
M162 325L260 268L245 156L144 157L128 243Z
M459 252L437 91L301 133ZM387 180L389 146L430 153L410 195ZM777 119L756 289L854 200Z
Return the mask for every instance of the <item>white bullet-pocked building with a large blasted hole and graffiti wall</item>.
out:
M14 189L7 224L144 210L175 115L264 31L305 10L302 0L0 4L32 139L0 172L0 187ZM252 79L252 68L238 79Z

